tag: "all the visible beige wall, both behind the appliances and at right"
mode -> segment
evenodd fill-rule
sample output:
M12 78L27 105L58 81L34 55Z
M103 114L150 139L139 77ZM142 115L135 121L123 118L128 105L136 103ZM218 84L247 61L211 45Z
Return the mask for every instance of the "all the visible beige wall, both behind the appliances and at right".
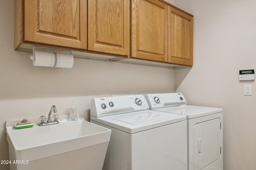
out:
M64 69L35 67L29 53L13 50L14 1L1 0L0 160L8 160L5 121L47 115L53 104L65 114L72 100L88 119L95 96L176 90L189 104L224 109L224 169L254 170L256 86L239 82L238 73L256 70L256 1L175 0L174 5L194 15L192 68L75 58L74 67ZM243 96L243 84L252 84L252 96Z

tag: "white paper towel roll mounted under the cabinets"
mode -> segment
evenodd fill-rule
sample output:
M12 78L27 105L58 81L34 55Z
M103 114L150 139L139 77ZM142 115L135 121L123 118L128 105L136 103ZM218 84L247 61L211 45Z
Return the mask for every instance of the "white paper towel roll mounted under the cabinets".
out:
M34 51L34 58L32 60L34 66L72 68L74 64L74 58L72 54L38 50Z

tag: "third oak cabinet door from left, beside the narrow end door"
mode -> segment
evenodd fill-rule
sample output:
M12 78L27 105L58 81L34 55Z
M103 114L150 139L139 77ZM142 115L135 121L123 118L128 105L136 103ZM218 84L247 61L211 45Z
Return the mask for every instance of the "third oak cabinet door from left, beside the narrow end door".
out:
M132 0L132 56L167 62L168 6L158 0Z

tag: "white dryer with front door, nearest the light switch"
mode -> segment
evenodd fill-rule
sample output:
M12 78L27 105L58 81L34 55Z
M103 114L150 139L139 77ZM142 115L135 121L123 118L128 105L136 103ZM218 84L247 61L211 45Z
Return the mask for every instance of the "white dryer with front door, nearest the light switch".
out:
M186 115L188 170L223 170L222 109L186 105L181 93L144 96L150 109Z

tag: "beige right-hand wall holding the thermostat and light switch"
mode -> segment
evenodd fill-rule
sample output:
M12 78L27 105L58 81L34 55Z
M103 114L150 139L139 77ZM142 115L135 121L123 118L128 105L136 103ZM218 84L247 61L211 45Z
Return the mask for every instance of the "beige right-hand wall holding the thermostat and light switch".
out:
M192 105L224 109L224 170L255 170L256 0L175 0L194 15L194 66L175 70L176 92ZM252 96L243 85L252 84Z

